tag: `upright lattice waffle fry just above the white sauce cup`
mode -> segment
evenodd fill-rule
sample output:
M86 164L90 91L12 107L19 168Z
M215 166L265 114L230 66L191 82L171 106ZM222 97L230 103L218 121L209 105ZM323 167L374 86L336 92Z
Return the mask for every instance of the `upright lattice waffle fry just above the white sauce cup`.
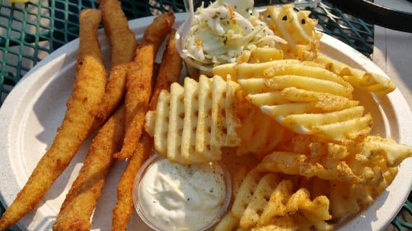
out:
M216 75L185 79L162 91L156 112L146 114L145 129L155 136L155 149L182 164L220 160L221 147L240 145L240 86Z

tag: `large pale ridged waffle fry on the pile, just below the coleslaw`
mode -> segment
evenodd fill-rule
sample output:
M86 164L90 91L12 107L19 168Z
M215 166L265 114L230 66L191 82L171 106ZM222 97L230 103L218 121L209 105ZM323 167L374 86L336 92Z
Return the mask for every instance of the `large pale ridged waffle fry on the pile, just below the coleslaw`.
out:
M241 65L233 67L237 73ZM370 114L363 114L352 100L352 86L338 75L313 62L269 66L256 67L263 78L238 75L238 82L253 105L284 127L338 142L361 140L371 132Z

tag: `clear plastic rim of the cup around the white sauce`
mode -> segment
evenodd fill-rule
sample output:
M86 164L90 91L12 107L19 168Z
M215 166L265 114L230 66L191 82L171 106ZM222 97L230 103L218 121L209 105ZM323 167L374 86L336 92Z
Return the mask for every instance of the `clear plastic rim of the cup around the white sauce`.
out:
M149 219L147 219L144 209L141 206L140 201L139 201L139 195L140 195L139 190L140 190L141 179L143 178L147 169L149 169L152 166L152 164L155 163L157 160L161 160L161 159L165 159L165 157L160 154L154 153L153 156L148 158L148 160L146 160L146 162L144 162L144 164L141 165L135 177L135 182L133 184L133 204L135 204L135 209L136 209L137 214L139 215L141 220L144 221L144 223L146 223L147 226L149 226L150 228L156 231L168 231L168 230L162 230L161 228L157 227L155 223L152 223ZM220 208L218 214L216 215L216 217L214 217L213 220L210 221L210 223L207 223L207 225L204 226L203 228L200 228L198 230L192 230L192 231L204 231L204 230L211 228L218 221L220 221L220 219L222 219L222 217L225 215L227 211L227 207L229 207L229 203L231 200L231 178L230 178L229 171L227 171L225 165L222 165L219 162L213 162L212 165L219 165L223 170L225 184L226 184L225 200L222 204L222 208Z

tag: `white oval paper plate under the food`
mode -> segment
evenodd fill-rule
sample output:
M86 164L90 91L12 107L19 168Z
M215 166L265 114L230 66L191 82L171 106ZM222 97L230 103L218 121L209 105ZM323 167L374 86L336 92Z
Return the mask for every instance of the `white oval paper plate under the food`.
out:
M176 14L180 25L187 14ZM137 38L152 17L130 21ZM100 30L99 40L106 61L109 57L108 41ZM30 173L52 142L66 110L66 100L71 93L76 65L78 39L69 42L50 54L29 71L8 95L0 110L0 199L6 206L23 188ZM324 35L321 51L352 66L385 75L376 64L343 42ZM374 133L391 136L400 143L412 145L412 114L399 90L374 98L368 93L355 93L355 98L365 105L374 117ZM51 230L60 204L87 153L90 139L82 147L71 165L58 178L45 195L37 210L19 222L22 230ZM356 217L336 226L336 230L382 230L400 210L412 186L412 158L405 160L391 186L376 202ZM92 230L111 230L111 212L116 202L116 187L124 169L117 162L108 176L102 197L93 215ZM128 230L149 230L133 215Z

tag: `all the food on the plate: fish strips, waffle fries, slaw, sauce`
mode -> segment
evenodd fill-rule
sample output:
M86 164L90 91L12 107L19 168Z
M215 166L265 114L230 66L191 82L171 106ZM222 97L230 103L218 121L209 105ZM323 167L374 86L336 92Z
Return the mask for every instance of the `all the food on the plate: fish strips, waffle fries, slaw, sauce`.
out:
M322 53L309 16L293 5L258 12L251 0L218 0L196 10L187 36L166 12L137 41L120 1L82 10L67 112L0 231L36 208L89 136L54 231L91 229L116 160L127 165L113 231L126 230L134 208L165 231L326 231L367 208L412 147L372 134L374 118L354 94L387 95L396 86ZM101 21L111 45L108 75ZM211 76L179 82L183 60Z

